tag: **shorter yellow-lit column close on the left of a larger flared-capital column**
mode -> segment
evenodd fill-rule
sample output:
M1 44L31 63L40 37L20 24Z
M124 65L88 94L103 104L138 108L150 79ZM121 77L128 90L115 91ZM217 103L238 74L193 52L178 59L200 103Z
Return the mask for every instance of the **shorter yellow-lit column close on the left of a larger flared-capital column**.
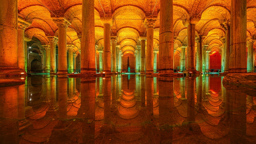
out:
M50 74L56 74L56 44L57 37L48 37L50 43Z

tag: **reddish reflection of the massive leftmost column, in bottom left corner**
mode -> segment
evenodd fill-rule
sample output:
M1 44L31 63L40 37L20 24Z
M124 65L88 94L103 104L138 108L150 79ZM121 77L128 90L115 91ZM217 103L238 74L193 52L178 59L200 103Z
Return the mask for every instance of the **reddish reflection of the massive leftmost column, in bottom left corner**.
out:
M19 108L24 106L18 105L19 89L22 90L23 88L19 86L0 88L1 143L19 143L19 124L17 119L24 117L24 112L21 115L18 113L21 111ZM21 93L24 94L23 91Z

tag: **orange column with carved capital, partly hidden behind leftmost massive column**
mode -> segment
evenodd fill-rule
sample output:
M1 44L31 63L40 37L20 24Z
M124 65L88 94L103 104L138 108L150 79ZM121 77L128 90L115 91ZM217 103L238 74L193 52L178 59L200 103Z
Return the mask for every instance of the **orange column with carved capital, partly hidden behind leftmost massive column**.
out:
M19 22L18 22L18 59L19 59L19 68L22 70L25 70L25 51L26 48L24 47L25 42L24 42L24 31L27 27L29 27L29 23L18 18Z

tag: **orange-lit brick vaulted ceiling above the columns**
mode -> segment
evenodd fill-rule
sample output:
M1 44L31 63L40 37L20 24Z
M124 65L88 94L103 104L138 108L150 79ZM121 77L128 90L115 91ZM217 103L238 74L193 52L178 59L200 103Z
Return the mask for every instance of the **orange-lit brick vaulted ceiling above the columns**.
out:
M112 35L118 37L120 48L134 51L139 45L139 37L146 36L143 21L146 16L154 16L154 46L158 47L160 0L94 0L95 44L103 46L103 25L100 17L112 16ZM230 21L230 0L173 0L174 48L187 43L187 28L182 21L189 17L200 17L196 24L196 36L204 36L203 43L209 50L218 51L223 45L221 38L225 30L220 25ZM256 35L256 0L247 0L247 37ZM82 0L18 0L18 15L31 22L25 36L36 38L47 44L47 36L58 36L58 27L52 17L64 17L71 22L67 28L67 43L80 48L77 34L82 31Z

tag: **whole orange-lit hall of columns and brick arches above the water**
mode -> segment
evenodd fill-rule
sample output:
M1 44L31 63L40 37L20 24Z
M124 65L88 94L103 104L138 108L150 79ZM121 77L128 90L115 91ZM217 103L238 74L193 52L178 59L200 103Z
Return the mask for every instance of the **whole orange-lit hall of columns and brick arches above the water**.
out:
M254 72L256 2L236 1L5 0L1 75Z

